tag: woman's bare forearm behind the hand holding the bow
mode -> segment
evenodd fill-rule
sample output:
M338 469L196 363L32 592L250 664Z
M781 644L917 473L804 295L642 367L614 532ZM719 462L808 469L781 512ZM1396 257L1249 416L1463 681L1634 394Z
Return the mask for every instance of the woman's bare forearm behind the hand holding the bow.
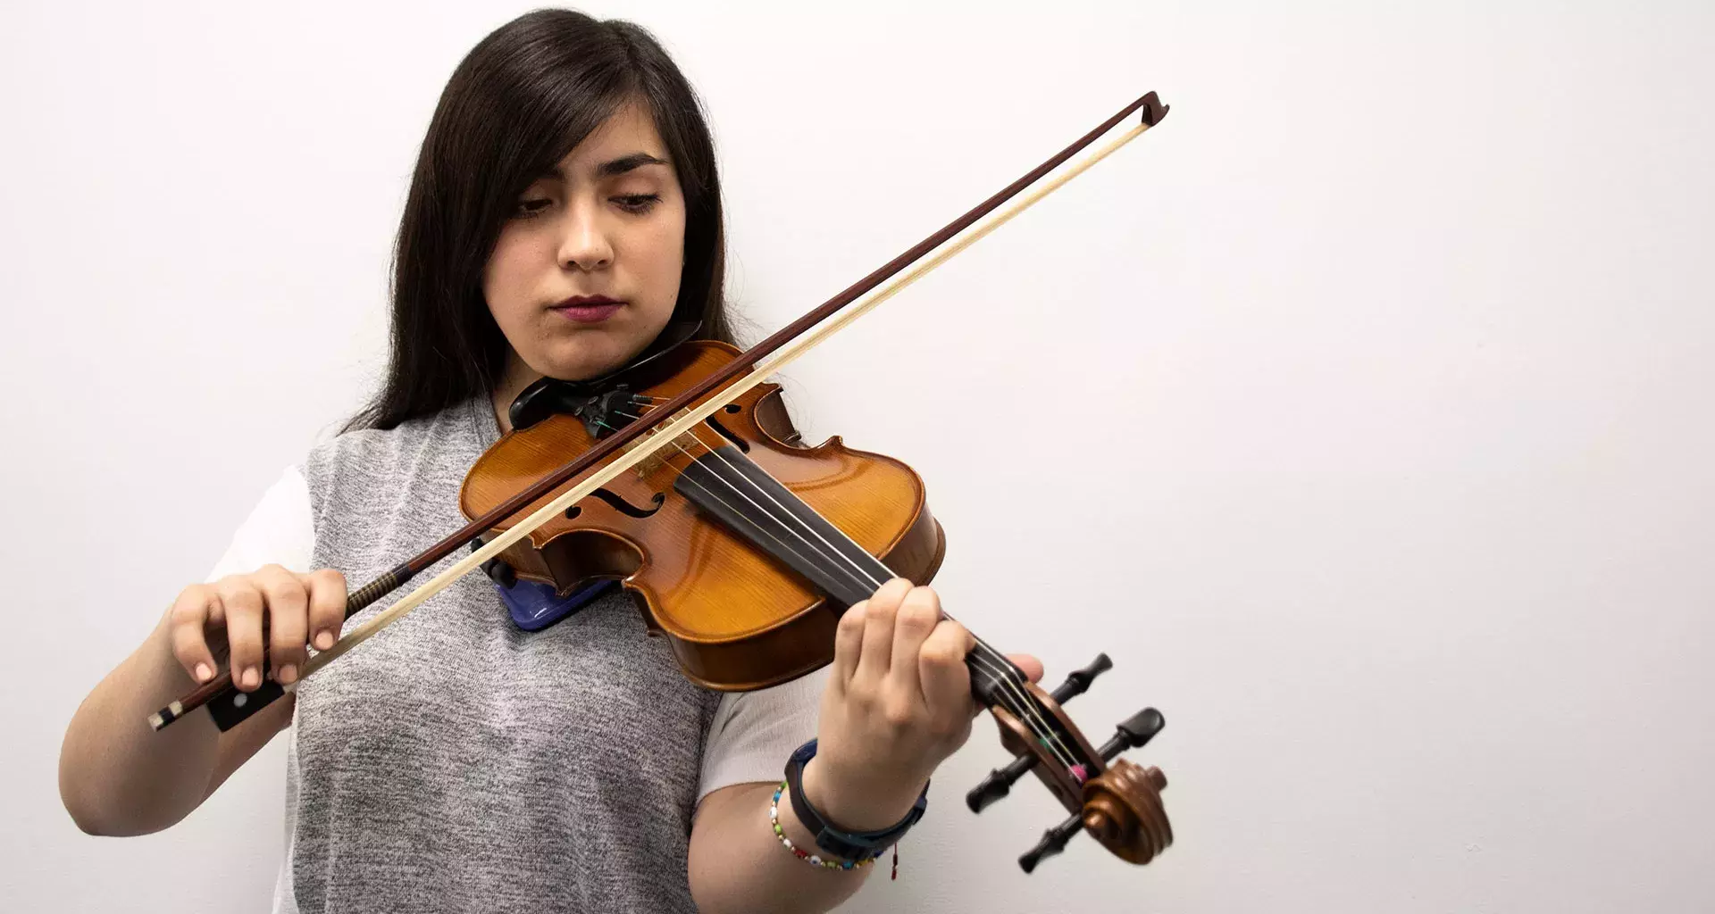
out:
M158 626L89 693L60 746L60 799L79 828L158 832L202 803L220 748L213 720L190 715L161 732L146 722L194 686Z

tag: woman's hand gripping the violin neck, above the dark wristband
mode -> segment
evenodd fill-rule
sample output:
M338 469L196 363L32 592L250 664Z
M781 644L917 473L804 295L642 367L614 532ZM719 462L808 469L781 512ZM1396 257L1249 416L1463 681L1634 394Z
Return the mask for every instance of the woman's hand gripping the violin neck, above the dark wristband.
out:
M832 823L873 832L902 820L935 768L971 737L979 710L966 655L976 638L928 586L895 578L845 610L821 693L804 796ZM1012 655L1031 681L1043 664Z

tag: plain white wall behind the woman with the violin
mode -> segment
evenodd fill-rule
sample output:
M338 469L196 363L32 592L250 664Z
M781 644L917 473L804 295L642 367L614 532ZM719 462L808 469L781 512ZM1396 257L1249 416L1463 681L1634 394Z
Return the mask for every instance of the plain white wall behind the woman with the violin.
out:
M1113 655L1094 739L1166 712L1176 844L1020 875L1060 813L962 808L981 722L849 911L1715 907L1710 7L590 7L707 96L763 331L1173 105L789 381L926 477L955 614ZM278 744L103 840L60 737L374 379L417 142L525 9L0 15L0 907L266 905Z

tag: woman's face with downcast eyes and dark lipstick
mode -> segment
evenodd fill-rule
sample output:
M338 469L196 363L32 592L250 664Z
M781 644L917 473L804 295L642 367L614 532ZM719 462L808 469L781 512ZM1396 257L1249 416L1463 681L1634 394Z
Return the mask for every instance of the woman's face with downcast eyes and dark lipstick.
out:
M626 105L518 197L482 271L511 393L623 367L667 326L683 268L677 173L648 110Z

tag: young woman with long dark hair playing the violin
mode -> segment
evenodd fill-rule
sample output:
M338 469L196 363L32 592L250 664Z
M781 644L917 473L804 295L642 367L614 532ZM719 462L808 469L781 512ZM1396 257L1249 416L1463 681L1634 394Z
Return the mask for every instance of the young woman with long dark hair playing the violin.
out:
M906 581L842 617L828 670L717 695L617 588L527 633L466 576L225 734L202 713L142 724L216 674L211 641L244 691L264 669L295 681L338 638L348 580L463 523L460 482L525 386L605 376L674 328L725 340L722 245L708 127L647 33L542 10L485 38L412 178L381 393L79 708L60 760L72 818L166 828L288 731L274 911L799 912L851 895L880 847L837 857L803 820L909 823L976 710L969 633ZM775 806L811 737L811 815Z

